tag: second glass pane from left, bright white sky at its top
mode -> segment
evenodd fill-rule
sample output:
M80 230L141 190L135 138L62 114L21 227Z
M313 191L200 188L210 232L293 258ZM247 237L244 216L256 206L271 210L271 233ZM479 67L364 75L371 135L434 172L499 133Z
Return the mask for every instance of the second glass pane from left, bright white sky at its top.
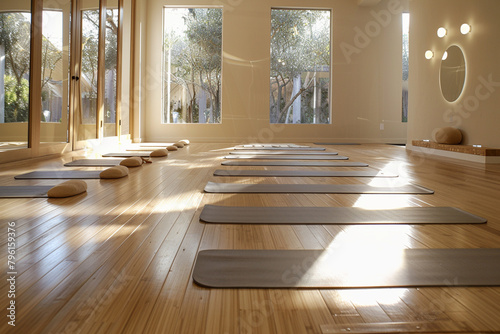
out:
M68 141L71 1L50 3L42 24L41 141Z

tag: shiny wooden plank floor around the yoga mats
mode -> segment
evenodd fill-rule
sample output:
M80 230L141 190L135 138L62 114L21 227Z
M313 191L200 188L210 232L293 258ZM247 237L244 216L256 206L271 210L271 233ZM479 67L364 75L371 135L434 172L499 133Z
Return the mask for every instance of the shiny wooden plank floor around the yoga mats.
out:
M402 248L498 248L500 165L425 156L391 145L346 145L327 146L327 151L336 150L351 161L366 162L369 168L396 172L400 177L212 176L216 168L237 168L220 165L230 149L228 144L193 143L168 158L155 158L152 164L132 169L125 179L87 180L87 194L74 198L0 199L4 254L0 333L333 333L339 328L355 332L362 327L357 324L367 324L366 331L389 331L389 325L375 324L389 322L419 323L422 328L434 324L438 332L500 333L500 287L463 288L445 282L442 288L418 289L207 289L191 278L196 254L202 249L350 247L353 254L363 256ZM63 163L76 155L0 165L0 185L57 184L61 181L14 180L14 176L68 169ZM207 181L412 182L435 194L204 194ZM368 209L455 206L487 218L488 224L205 225L199 222L205 204ZM11 300L5 279L8 222L15 225L17 242L15 328L5 316ZM453 329L456 324L462 327Z

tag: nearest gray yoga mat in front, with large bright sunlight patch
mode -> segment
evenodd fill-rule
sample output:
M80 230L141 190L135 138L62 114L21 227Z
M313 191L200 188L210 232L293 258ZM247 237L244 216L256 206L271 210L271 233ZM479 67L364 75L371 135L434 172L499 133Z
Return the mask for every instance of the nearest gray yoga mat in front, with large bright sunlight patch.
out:
M213 288L500 286L499 263L498 248L204 250L193 280Z

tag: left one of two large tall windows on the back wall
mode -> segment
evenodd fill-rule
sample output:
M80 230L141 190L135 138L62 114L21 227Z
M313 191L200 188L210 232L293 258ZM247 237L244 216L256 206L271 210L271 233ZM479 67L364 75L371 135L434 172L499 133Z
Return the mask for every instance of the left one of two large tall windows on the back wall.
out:
M163 123L221 122L221 8L165 8Z

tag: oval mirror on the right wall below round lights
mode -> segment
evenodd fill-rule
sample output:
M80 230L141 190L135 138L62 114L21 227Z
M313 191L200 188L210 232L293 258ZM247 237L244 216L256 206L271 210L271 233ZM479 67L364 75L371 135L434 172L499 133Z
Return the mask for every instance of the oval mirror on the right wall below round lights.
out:
M441 61L441 92L448 102L454 102L462 94L465 84L465 57L462 49L456 45L450 46Z

